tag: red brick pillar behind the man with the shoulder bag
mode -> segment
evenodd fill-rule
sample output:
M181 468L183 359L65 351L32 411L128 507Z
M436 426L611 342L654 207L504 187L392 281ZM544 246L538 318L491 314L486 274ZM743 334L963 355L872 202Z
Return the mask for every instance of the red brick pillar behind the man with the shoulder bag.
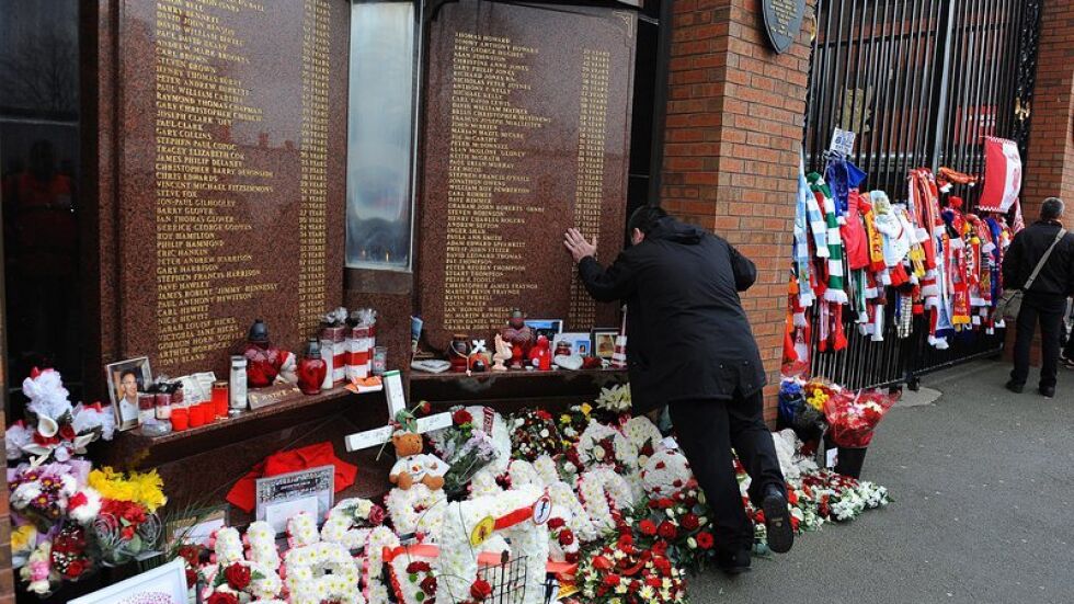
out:
M1040 215L1048 197L1066 202L1066 225L1074 225L1074 3L1044 0L1037 50L1037 84L1029 130L1029 150L1021 187L1027 224ZM1007 330L1006 356L1014 350L1014 326ZM1030 362L1040 364L1040 332Z

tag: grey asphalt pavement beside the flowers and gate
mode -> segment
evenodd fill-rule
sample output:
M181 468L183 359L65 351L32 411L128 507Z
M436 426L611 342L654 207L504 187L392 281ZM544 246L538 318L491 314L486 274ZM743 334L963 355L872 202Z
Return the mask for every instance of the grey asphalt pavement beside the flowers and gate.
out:
M894 503L749 574L694 578L692 602L1074 603L1074 372L1060 369L1049 400L1007 392L1008 371L927 376L940 396L893 409L865 460Z

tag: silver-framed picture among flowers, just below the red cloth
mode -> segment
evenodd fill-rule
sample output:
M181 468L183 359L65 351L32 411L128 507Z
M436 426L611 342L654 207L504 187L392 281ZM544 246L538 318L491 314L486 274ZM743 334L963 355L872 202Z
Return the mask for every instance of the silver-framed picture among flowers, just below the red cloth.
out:
M308 512L320 524L335 497L335 466L259 478L254 487L254 520L267 522L277 535L287 531L287 520Z

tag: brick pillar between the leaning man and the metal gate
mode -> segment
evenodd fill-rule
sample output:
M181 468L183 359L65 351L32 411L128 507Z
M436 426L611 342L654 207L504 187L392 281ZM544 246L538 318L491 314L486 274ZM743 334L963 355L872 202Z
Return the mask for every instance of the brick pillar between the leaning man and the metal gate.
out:
M756 263L757 284L743 306L768 369L765 417L773 420L809 34L803 26L791 48L776 55L758 0L673 1L661 203L679 218L724 237Z

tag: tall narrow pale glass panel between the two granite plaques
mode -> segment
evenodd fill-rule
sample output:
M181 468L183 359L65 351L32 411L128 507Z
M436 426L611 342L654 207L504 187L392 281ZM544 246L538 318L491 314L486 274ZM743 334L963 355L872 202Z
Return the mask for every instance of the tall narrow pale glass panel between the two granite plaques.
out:
M415 10L411 2L352 7L350 267L410 270L420 39Z

